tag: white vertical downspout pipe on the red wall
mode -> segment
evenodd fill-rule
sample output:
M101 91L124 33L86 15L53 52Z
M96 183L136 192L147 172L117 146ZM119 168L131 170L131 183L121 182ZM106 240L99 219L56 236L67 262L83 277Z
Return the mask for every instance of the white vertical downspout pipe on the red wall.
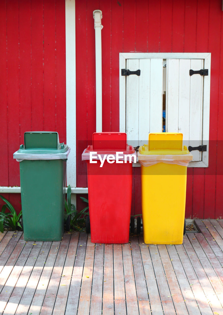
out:
M95 28L95 68L96 68L96 132L102 132L102 49L101 25L102 11L94 10Z

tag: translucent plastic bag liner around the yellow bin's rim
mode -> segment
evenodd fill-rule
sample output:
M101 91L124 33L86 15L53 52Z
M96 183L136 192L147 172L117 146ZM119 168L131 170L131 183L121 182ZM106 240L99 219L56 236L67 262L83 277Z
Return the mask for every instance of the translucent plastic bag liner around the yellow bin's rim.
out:
M150 155L137 153L139 163L143 166L151 166L157 163L177 164L182 166L188 166L192 161L192 154L177 154L177 155Z

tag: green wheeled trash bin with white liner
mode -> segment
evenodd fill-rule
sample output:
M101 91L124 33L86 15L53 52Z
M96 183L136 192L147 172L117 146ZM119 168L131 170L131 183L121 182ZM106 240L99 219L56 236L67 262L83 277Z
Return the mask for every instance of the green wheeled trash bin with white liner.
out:
M13 154L20 162L25 241L60 241L64 233L66 161L70 148L57 132L25 132Z

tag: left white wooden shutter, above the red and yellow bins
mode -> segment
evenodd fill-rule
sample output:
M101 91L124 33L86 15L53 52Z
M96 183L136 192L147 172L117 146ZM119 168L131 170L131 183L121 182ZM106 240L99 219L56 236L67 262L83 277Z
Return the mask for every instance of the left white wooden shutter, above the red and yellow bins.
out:
M126 69L140 76L126 77L126 133L128 144L148 142L149 132L162 132L162 59L128 59Z

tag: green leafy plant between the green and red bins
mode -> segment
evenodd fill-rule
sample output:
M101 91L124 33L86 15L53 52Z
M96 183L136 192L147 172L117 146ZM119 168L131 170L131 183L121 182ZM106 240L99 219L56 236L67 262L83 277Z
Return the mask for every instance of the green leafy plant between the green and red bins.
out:
M81 197L83 201L88 203L86 198ZM77 211L76 207L73 203L71 203L71 188L70 185L67 187L67 200L65 200L65 221L70 215L70 227L71 229L75 229L77 231L82 231L84 228L84 224L86 221L86 216L89 215L89 212L86 211L88 207L82 209L81 211Z

